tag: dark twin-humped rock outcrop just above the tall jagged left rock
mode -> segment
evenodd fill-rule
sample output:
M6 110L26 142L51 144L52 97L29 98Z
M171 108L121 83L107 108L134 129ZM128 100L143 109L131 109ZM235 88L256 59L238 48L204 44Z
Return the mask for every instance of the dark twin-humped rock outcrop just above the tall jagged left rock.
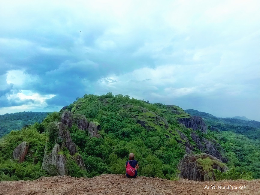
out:
M68 110L65 110L62 113L61 122L67 125L69 128L71 128L73 124L76 124L77 127L81 130L86 130L89 126L89 122L84 115L73 114Z

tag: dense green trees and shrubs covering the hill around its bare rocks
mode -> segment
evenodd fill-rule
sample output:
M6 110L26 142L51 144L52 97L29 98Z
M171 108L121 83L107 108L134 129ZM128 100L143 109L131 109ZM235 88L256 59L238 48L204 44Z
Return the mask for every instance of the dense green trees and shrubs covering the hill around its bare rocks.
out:
M135 98L130 99L128 95L85 94L65 110L47 115L43 122L35 122L21 131L11 131L0 138L1 181L32 180L51 175L42 169L44 151L59 143L53 140L55 136L52 124L60 122L62 113L66 110L75 115L83 115L89 122L100 125L99 138L90 136L88 131L80 130L75 124L68 128L86 167L86 170L81 170L74 161L68 161L68 174L74 177L93 177L103 173L125 174L125 162L129 153L133 152L140 167L138 176L175 180L178 179L177 164L186 153L186 142L189 141L194 147L194 154L201 153L192 140L193 130L178 121L191 117L192 114L180 107L149 104ZM219 118L212 115L208 117L209 119L203 117L207 124L207 133L199 130L196 133L200 138L214 139L216 144L224 149L229 170L226 173L218 173L218 179L260 178L260 149L259 140L256 138L258 135L245 135L253 129L258 131L257 126L246 126L249 130L241 133L235 129L239 122L230 124L225 120L219 121ZM214 119L216 125L213 123ZM225 131L222 128L225 128ZM183 140L182 134L188 140ZM29 143L28 154L24 162L18 163L12 159L13 151L24 141ZM71 158L66 147L58 154ZM208 163L211 162L202 162L206 167Z

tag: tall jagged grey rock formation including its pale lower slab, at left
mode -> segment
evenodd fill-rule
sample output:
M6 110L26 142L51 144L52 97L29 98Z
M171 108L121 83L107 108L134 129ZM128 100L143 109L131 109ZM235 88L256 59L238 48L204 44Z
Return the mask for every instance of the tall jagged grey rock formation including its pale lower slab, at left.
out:
M76 144L71 140L67 127L62 122L51 122L49 125L56 131L57 137L55 138L55 145L51 151L48 151L47 145L45 145L42 169L47 170L49 174L53 176L68 175L66 168L67 158L74 160L81 169L86 169L80 154L77 153ZM68 149L69 152L67 158L63 152L66 149Z

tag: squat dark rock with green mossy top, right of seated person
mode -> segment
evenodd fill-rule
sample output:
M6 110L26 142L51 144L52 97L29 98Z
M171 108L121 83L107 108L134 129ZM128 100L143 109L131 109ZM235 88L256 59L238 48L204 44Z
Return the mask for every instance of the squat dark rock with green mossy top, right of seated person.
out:
M211 167L204 166L204 162L210 164ZM217 169L221 172L228 170L225 164L221 163L219 159L205 153L199 155L184 155L184 158L180 159L177 169L180 170L180 178L195 181L216 180L213 169Z

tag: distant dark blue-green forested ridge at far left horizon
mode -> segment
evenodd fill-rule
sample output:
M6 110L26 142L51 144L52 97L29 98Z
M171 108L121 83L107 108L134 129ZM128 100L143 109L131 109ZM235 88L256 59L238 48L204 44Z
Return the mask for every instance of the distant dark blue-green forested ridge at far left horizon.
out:
M35 122L41 123L47 113L22 112L0 115L0 137L10 133L12 130L20 130L25 125L33 125Z

